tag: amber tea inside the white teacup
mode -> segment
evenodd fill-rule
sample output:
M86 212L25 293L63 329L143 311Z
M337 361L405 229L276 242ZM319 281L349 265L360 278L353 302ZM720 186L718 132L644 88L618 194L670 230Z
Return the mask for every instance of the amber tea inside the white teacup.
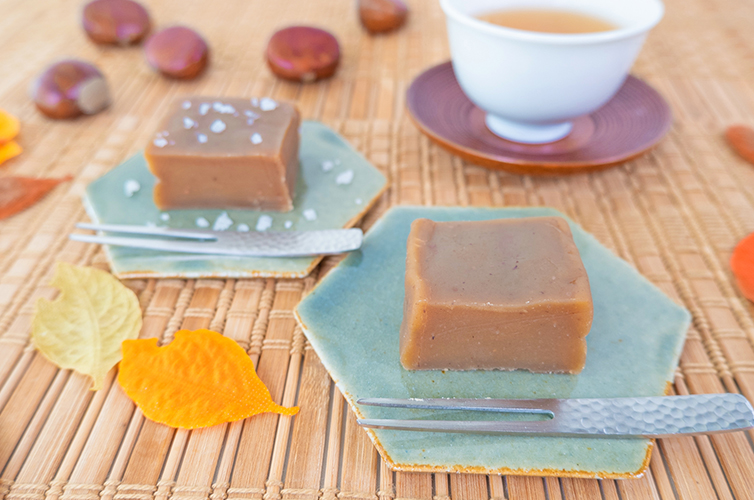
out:
M506 9L487 12L477 19L506 28L540 33L599 33L618 26L598 17L554 9Z

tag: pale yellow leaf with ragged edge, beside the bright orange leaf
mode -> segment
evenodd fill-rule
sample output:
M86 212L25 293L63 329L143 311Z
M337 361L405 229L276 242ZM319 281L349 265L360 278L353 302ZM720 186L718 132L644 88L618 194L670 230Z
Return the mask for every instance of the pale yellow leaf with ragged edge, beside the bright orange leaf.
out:
M139 335L139 300L111 274L63 262L51 285L60 296L37 301L34 346L59 367L92 377L92 389L99 390L121 359L121 343Z

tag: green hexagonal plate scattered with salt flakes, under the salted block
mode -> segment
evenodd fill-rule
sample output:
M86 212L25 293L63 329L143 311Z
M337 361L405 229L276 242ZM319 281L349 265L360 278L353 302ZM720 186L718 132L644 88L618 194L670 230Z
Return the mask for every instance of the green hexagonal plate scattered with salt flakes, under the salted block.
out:
M340 135L317 122L301 126L301 171L291 212L227 210L229 231L245 224L254 231L260 217L271 218L270 230L314 230L353 226L387 187L387 180ZM351 173L349 173L349 171ZM129 196L126 186L139 186ZM211 229L224 210L160 212L152 201L155 178L139 153L114 168L86 190L84 204L94 222L154 224L197 228L203 218ZM241 226L243 227L243 226ZM302 278L321 257L255 258L192 255L139 248L106 247L113 273L119 278Z

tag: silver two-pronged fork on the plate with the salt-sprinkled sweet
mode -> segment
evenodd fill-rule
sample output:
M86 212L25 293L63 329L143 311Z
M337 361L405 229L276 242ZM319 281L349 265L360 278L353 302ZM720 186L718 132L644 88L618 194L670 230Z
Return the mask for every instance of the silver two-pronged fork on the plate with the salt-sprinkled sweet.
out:
M69 237L74 241L166 252L245 257L305 257L350 252L361 247L364 236L361 229L238 232L83 222L76 224L76 227L106 233L144 235L150 238L71 234Z

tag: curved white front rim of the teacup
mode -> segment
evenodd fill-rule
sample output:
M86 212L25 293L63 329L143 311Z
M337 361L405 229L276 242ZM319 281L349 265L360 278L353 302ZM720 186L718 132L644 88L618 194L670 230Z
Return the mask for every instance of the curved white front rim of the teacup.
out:
M657 7L657 14L650 20L637 24L635 26L629 26L626 28L620 28L617 30L600 31L596 33L578 33L578 34L565 34L565 33L542 33L536 31L524 31L513 28L506 28L504 26L497 26L473 16L464 14L452 5L451 0L439 0L440 7L445 15L452 17L458 22L461 22L471 28L478 29L496 36L506 36L511 39L527 41L527 42L539 42L549 45L585 45L585 44L597 44L603 42L612 42L630 38L642 33L646 33L662 20L665 15L665 4L662 0L649 0Z

